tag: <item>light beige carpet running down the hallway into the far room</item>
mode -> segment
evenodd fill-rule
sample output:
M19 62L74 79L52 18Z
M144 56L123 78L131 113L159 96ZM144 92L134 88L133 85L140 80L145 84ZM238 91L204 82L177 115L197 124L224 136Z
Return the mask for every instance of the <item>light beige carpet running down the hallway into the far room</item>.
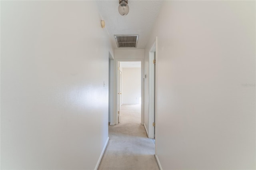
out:
M109 126L109 142L98 170L159 170L155 145L140 124L140 105L122 105L120 123Z

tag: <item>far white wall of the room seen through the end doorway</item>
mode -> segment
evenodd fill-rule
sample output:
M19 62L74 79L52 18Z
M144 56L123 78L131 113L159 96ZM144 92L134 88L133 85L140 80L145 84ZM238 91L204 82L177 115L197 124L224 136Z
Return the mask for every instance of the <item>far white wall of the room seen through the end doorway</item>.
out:
M141 68L123 68L122 70L123 104L140 104Z

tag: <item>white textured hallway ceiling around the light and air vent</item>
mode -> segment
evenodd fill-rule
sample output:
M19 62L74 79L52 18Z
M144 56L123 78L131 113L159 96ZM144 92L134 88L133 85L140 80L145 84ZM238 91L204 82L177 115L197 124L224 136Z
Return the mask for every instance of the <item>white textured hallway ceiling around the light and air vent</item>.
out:
M117 49L114 35L139 35L137 49L144 49L154 26L162 0L128 0L128 15L118 13L118 0L98 0L97 5L105 21L112 44ZM132 48L133 49L133 48Z

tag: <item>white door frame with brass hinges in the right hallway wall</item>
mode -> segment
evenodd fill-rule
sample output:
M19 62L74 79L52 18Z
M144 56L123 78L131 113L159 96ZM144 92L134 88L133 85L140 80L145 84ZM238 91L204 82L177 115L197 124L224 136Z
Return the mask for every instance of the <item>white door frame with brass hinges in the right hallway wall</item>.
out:
M156 108L155 108L155 68L156 64L153 63L153 60L156 59L156 41L152 45L149 51L149 103L148 103L148 137L155 138L155 127L153 123L155 123L155 115L156 115Z

